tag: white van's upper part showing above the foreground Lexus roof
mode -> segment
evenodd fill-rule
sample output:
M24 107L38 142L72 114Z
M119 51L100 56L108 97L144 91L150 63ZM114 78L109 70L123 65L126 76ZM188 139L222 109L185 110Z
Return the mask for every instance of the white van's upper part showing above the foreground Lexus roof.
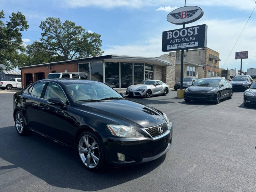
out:
M49 73L46 79L89 79L87 73Z

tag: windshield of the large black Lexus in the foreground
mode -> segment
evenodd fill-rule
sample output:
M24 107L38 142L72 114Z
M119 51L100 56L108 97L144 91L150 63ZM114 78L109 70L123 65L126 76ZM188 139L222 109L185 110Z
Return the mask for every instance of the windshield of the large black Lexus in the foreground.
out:
M76 102L86 100L102 100L106 98L124 98L118 92L103 83L75 83L67 84L66 86Z

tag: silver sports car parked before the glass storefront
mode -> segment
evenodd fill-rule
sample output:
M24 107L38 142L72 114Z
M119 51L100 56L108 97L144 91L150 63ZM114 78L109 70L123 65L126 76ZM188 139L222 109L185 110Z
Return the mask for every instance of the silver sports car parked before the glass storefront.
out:
M128 96L151 97L152 95L167 95L169 85L159 80L144 80L140 84L131 85L126 89Z

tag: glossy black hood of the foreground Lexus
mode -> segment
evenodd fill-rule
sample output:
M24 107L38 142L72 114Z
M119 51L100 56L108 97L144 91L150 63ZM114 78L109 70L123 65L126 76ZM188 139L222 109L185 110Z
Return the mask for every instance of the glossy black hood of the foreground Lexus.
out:
M138 102L130 100L111 100L102 102L84 102L86 112L105 117L110 122L130 126L132 128L146 128L165 122L159 111Z

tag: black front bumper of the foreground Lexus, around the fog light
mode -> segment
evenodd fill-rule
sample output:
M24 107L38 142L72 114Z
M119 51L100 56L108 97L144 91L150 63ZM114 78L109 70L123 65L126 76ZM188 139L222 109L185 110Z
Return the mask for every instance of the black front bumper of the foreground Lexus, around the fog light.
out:
M107 139L105 146L105 161L111 166L127 166L153 161L167 153L172 146L172 123L168 134L153 140L143 138ZM125 155L125 161L119 161L117 153Z

